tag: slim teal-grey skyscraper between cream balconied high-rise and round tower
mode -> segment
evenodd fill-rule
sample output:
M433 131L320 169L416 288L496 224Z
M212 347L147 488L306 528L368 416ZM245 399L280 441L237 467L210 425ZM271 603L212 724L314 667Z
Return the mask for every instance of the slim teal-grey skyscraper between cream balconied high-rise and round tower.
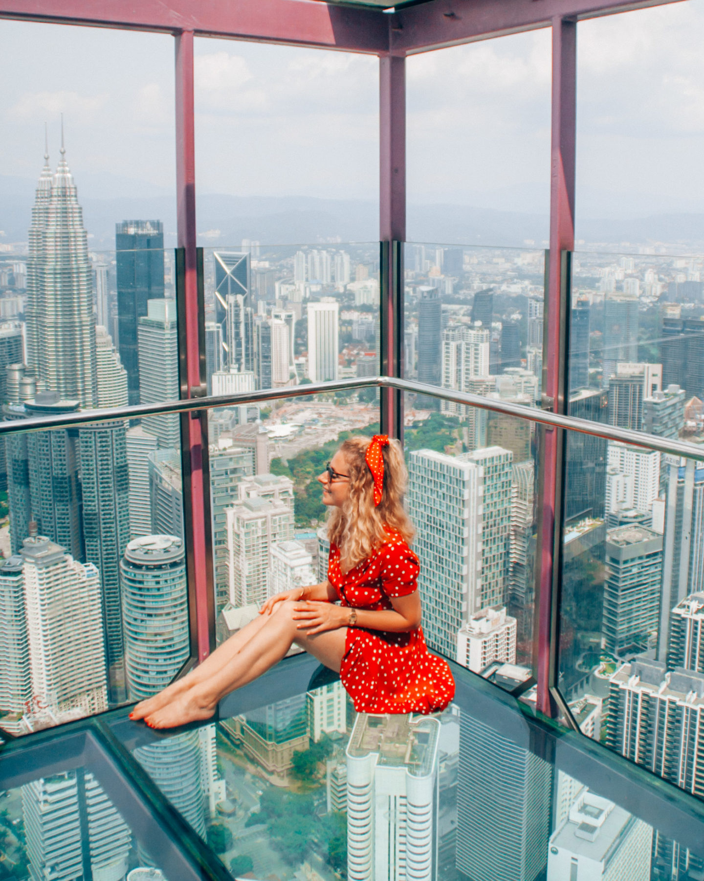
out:
M130 537L125 433L122 420L78 429L85 559L100 573L108 696L114 703L126 697L120 593L120 559Z

